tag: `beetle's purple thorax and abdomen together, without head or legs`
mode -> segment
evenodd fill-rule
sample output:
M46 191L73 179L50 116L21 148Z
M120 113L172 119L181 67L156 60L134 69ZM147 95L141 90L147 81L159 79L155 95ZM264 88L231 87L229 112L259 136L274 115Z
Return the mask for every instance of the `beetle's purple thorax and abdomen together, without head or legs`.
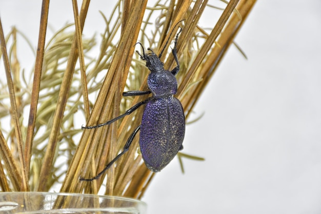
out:
M148 87L154 99L145 107L139 145L146 166L162 170L175 157L185 135L185 115L182 104L173 97L177 91L175 76L159 69L148 76Z

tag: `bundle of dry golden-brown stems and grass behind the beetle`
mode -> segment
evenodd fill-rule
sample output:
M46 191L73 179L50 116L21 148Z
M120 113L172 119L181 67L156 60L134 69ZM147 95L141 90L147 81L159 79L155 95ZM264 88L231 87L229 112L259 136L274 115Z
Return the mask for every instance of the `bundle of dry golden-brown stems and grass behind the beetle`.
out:
M94 176L122 150L139 125L144 108L109 126L84 131L73 123L74 112L83 111L87 125L95 125L146 99L147 96L136 96L133 100L122 98L124 89L147 89L149 71L137 56L133 59L135 43L145 42L145 47L152 47L157 53L167 40L173 40L175 33L169 32L175 24L184 20L179 24L183 31L177 43L180 71L176 97L182 102L188 118L255 1L226 3L210 31L198 26L205 8L211 7L206 0L157 1L152 8L146 7L147 0L119 1L113 13L105 17L107 27L99 44L100 53L90 66L84 59L95 41L82 37L89 1L83 2L79 12L73 1L75 25L66 28L74 27L74 33L68 34L64 28L45 44L48 2L43 1L36 61L30 79L24 77L24 71L15 60L15 42L9 51L6 47L9 38L15 41L16 31L10 32L6 39L0 25L1 56L7 75L7 82L1 84L0 116L5 118L9 114L12 123L9 131L0 130L0 187L2 191L48 191L64 178L61 192L96 194L105 188L108 195L140 198L154 174L141 160L138 138L101 178L79 182L79 177ZM155 13L158 14L156 20L151 20ZM147 20L143 20L144 14ZM116 22L111 22L112 19ZM151 24L153 33L146 35L147 26ZM113 45L119 31L121 37ZM75 69L77 59L79 69ZM171 54L164 54L162 61L166 69L175 67ZM97 76L102 73L106 73L104 79L99 80ZM96 91L99 93L92 104L88 96ZM6 99L10 102L5 102ZM27 127L22 125L26 108L30 108ZM73 136L79 132L81 139L74 142ZM68 166L67 170L62 170L60 165L54 167L61 156L67 157L67 163L63 163ZM108 179L103 185L106 176Z

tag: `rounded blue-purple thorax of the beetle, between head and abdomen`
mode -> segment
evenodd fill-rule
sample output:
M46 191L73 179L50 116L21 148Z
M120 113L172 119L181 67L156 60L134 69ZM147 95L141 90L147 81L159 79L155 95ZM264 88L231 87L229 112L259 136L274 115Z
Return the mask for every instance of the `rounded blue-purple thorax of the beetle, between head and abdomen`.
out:
M177 92L177 80L168 70L151 72L148 75L147 84L154 97L166 98Z

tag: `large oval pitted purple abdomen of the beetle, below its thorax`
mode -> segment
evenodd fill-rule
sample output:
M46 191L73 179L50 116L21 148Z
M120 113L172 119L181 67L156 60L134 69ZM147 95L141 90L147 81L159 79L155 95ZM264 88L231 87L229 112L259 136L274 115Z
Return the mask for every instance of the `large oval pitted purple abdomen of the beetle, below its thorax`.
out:
M179 100L170 96L147 103L139 144L146 166L156 172L175 157L185 134L185 115Z

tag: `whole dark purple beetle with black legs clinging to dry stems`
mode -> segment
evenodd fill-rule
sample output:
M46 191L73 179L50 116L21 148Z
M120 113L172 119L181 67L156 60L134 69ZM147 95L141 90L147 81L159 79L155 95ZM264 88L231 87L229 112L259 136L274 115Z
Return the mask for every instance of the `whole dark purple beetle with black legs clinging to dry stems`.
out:
M178 23L177 23L178 24ZM176 25L177 25L176 24ZM81 178L81 181L92 181L99 178L118 158L120 158L129 149L135 135L141 130L139 136L139 146L141 147L142 157L146 166L154 172L162 170L175 157L179 150L183 149L183 140L185 135L185 115L182 104L173 95L177 92L177 80L175 75L179 71L179 62L176 52L176 44L179 33L182 28L179 28L175 36L174 48L172 54L177 66L169 71L164 69L164 63L160 61L168 41L166 42L162 52L157 56L150 48L147 50L150 53L145 53L141 43L143 54L138 53L141 59L146 61L146 67L150 70L147 84L149 91L128 91L123 92L123 96L137 96L152 93L148 99L137 103L124 114L107 121L106 123L96 126L82 127L82 129L98 128L111 124L126 115L135 111L139 106L146 104L142 124L139 125L130 135L123 151L114 158L103 171L91 179Z

